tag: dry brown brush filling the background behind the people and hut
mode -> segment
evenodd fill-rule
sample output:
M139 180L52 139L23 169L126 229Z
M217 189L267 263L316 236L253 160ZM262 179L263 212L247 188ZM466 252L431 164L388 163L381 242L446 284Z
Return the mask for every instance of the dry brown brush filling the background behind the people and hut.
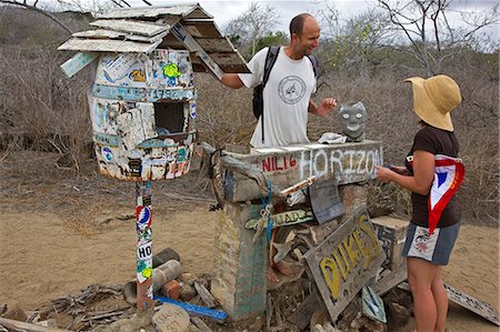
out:
M74 31L83 29L89 20L79 13L58 18ZM418 130L411 111L411 90L403 79L433 73L453 77L463 97L452 117L467 169L459 199L467 217L498 222L498 44L486 51L481 47L486 41L478 39L438 46L432 40L414 38L411 43L398 43L384 34L392 31L390 22L378 20L374 14L361 14L346 24L336 18L338 13L332 9L322 21L328 40L317 53L322 74L316 98L332 95L340 103L362 101L369 113L367 138L382 141L384 161L399 164ZM56 48L68 37L64 29L40 13L0 7L0 150L2 155L16 150L57 152L66 157L66 167L78 174L82 161L91 158L86 92L92 69L87 68L72 79L63 76L59 66L71 54L57 52ZM256 46L282 40L282 34L279 37L263 36L268 38L266 42L260 39L249 44L253 51ZM401 52L402 46L406 52ZM196 80L200 140L216 147L248 144L256 123L251 91L223 88L210 74L200 73ZM310 118L311 140L326 131L340 132L334 112L326 119ZM374 205L409 213L407 192L377 183L372 193Z

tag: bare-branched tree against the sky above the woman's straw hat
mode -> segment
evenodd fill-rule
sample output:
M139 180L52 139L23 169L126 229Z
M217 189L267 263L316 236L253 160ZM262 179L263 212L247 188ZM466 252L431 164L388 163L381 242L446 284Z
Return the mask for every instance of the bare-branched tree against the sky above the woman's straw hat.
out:
M411 47L400 51L417 59L428 76L439 73L444 60L478 41L486 27L498 24L499 3L482 12L461 11L454 0L378 0L394 31ZM460 18L460 27L452 16Z

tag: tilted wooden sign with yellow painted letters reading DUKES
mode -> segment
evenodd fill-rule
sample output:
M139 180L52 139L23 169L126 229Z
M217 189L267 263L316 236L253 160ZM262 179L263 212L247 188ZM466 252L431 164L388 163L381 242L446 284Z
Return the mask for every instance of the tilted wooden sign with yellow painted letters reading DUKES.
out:
M386 259L368 212L353 217L303 255L334 322Z

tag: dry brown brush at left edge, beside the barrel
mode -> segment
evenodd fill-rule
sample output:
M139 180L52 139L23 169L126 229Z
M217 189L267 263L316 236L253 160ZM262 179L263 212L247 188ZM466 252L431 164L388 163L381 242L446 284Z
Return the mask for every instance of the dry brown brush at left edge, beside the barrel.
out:
M0 137L3 148L69 153L78 169L89 157L91 81L89 72L68 80L59 68L67 57L50 48L1 50Z

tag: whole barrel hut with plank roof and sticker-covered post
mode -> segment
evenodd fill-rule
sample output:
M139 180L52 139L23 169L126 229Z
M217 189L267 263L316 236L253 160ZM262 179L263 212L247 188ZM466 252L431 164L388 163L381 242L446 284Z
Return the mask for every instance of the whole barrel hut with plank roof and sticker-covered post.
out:
M151 181L188 173L196 141L193 72L249 72L199 4L113 10L59 50L79 51L61 68L72 77L97 63L88 93L102 174L134 181L137 303L152 305Z

